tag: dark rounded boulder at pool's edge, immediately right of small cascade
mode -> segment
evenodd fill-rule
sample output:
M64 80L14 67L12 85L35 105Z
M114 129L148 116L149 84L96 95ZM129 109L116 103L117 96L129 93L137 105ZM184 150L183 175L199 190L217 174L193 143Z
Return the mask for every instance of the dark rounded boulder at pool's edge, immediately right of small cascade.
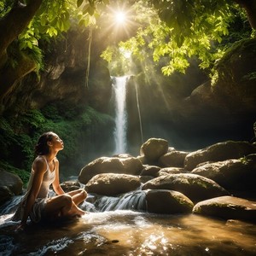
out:
M148 190L146 194L148 212L175 214L192 212L194 204L182 193L173 190Z

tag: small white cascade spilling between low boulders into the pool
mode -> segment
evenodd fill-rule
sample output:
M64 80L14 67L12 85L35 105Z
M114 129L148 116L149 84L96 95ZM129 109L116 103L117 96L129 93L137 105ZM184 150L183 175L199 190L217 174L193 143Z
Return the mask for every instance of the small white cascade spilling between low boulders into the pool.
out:
M99 212L115 210L135 210L145 212L147 209L146 192L137 190L119 197L102 196L96 200L95 206Z

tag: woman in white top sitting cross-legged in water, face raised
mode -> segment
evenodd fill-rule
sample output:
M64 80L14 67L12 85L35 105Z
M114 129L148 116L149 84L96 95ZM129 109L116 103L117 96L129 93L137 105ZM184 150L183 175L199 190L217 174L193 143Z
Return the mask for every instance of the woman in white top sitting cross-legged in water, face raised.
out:
M52 131L44 133L35 147L37 158L32 163L26 195L24 195L12 220L21 220L18 230L26 227L27 218L33 223L41 220L55 220L60 217L81 216L85 212L78 205L87 194L84 189L65 193L60 186L59 161L56 154L64 148L64 143ZM56 196L49 198L49 186L52 184Z

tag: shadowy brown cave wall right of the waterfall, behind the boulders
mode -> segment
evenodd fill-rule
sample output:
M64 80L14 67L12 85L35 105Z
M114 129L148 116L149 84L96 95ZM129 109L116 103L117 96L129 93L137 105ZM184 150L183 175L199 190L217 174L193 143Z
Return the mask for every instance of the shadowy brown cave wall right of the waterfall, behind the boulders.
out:
M131 153L142 142L136 85L144 141L163 137L184 150L224 140L250 141L256 121L255 54L255 39L234 44L218 61L214 83L195 66L165 80L152 74L149 84L142 73L132 77L127 99Z

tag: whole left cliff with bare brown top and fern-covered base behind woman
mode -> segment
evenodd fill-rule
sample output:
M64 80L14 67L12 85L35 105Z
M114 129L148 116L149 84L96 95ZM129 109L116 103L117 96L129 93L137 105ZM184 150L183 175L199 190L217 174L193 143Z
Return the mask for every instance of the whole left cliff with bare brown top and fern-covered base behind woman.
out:
M112 83L100 58L104 45L97 38L92 40L89 83L85 84L88 34L75 28L45 46L40 79L35 73L26 76L4 98L0 168L29 171L33 147L45 131L55 131L67 145L58 156L64 176L79 173L88 160L113 151L113 119L108 115Z

